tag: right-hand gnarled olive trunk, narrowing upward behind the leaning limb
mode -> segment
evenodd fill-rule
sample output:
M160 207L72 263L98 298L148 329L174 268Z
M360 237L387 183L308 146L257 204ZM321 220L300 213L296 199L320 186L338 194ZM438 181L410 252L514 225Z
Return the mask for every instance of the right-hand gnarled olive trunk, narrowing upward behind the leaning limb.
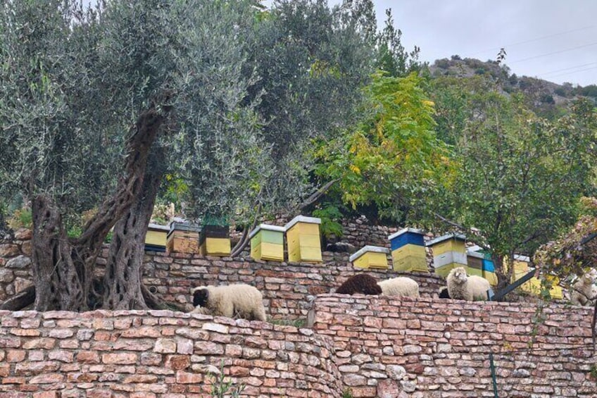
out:
M146 309L142 292L145 235L165 172L162 149L151 152L141 192L114 226L104 275L103 308Z

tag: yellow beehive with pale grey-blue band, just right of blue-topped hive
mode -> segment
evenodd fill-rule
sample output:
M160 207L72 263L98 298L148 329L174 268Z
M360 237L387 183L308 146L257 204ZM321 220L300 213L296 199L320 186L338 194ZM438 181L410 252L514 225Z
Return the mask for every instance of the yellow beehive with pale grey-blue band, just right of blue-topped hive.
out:
M437 275L445 278L453 268L467 268L465 241L465 235L448 234L427 242L433 251L433 266Z

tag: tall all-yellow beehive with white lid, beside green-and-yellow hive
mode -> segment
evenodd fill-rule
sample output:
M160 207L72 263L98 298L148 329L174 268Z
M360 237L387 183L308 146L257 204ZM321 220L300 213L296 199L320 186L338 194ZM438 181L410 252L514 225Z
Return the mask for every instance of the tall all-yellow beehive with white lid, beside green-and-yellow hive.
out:
M322 261L320 224L320 218L296 216L287 225L284 225L288 245L288 261L306 263Z

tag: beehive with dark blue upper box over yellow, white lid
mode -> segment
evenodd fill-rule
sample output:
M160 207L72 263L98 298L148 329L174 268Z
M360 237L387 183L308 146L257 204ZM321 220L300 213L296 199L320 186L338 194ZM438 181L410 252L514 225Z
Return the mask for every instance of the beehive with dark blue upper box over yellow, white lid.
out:
M428 272L423 232L404 228L388 237L391 244L392 268L399 271Z

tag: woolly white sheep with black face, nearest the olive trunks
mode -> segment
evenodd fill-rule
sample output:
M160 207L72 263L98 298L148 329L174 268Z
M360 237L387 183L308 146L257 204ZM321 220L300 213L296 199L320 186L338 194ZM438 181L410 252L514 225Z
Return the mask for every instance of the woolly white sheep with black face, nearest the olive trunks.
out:
M250 285L200 286L191 290L193 313L265 321L263 297Z

